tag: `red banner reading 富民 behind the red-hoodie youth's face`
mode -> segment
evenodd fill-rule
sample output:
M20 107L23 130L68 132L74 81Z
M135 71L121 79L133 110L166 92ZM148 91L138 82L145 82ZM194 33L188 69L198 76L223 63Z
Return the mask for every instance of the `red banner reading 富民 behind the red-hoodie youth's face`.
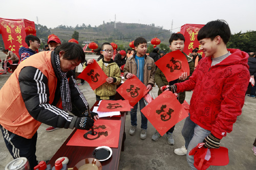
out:
M192 51L198 47L199 48L199 54L204 57L204 54L202 51L200 51L200 43L197 40L198 31L203 27L204 25L199 24L189 24L186 23L185 25L181 26L180 33L184 35L185 37L185 47L183 52L189 55L192 53Z

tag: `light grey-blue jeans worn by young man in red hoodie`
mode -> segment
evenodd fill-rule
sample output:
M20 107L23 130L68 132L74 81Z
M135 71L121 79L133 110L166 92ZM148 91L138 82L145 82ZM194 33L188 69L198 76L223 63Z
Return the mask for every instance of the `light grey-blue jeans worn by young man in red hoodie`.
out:
M197 169L194 166L194 155L189 155L189 152L197 146L198 143L202 143L204 138L210 134L210 131L201 128L199 125L196 124L194 130L194 136L190 140L188 147L187 147L187 163L191 167L191 169Z

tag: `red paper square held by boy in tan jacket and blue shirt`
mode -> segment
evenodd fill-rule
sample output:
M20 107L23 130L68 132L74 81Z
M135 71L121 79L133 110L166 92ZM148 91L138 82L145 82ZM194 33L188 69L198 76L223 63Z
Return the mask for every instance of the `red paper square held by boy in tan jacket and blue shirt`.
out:
M131 106L136 105L141 98L150 90L135 76L127 79L117 90L125 100L129 100Z

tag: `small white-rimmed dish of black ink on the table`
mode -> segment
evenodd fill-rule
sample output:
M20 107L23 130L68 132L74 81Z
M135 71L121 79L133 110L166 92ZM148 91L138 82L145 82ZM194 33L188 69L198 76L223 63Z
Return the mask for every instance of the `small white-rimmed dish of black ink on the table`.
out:
M108 160L112 156L112 149L110 147L102 146L93 151L93 157L99 161Z

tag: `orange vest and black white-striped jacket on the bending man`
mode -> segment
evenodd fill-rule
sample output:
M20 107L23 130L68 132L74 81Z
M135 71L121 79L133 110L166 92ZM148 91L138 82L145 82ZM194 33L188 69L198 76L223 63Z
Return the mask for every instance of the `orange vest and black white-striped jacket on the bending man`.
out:
M41 123L57 128L74 127L71 122L87 110L88 103L71 76L72 113L76 116L62 110L56 71L54 51L40 52L18 65L0 90L0 124L5 129L30 139Z

